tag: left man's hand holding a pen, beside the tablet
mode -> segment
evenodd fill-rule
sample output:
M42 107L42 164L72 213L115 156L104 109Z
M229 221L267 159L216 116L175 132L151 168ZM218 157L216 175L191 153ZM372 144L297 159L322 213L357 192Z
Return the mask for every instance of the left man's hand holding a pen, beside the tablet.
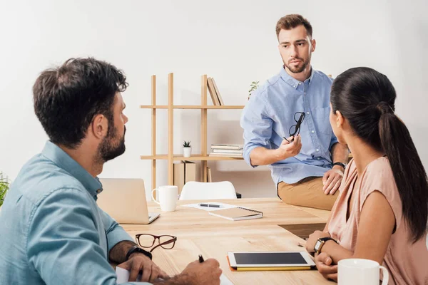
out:
M184 284L189 285L219 285L221 269L215 259L207 259L203 262L193 261L178 275L183 278Z

